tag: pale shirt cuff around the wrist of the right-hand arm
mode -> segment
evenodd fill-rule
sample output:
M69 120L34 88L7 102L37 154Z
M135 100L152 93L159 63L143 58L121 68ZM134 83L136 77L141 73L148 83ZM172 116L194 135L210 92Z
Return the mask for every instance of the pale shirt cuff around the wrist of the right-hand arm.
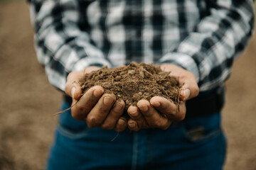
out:
M159 60L159 64L166 63L175 64L179 67L182 67L183 69L188 70L188 72L191 72L195 75L197 83L199 82L199 70L196 62L192 59L191 56L181 52L169 52Z

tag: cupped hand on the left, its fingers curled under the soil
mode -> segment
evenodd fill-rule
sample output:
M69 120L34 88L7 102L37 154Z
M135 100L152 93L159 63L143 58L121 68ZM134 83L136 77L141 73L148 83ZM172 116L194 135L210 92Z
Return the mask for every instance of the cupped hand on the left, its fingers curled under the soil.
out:
M65 93L73 99L72 116L76 120L85 120L89 128L101 127L121 132L127 128L127 119L122 117L124 101L116 101L114 94L103 94L102 86L93 86L81 96L79 79L97 69L100 67L87 67L82 71L68 74Z

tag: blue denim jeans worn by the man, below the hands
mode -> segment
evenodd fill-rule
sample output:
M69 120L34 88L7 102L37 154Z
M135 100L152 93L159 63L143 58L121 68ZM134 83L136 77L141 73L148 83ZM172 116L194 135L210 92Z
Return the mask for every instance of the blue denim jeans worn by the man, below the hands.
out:
M62 110L69 107L63 102ZM223 168L225 147L220 113L173 123L167 130L117 133L90 129L67 111L60 115L46 169L217 170Z

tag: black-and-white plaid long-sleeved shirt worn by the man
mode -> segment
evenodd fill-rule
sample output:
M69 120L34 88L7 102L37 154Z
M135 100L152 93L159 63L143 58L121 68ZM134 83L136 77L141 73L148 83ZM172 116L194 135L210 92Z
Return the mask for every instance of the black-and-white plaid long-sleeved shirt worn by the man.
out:
M254 23L252 0L30 0L39 62L64 91L68 73L173 63L201 91L223 84Z

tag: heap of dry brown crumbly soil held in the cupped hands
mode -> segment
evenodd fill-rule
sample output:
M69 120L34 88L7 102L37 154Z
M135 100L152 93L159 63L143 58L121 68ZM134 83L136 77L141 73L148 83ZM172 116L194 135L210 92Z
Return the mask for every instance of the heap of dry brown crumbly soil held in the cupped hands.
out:
M125 110L131 105L137 106L141 99L149 101L154 96L162 96L178 105L181 86L176 77L169 74L154 64L131 62L112 69L102 67L85 74L78 83L82 94L92 86L102 86L105 94L114 94L117 100L120 98L124 101Z

